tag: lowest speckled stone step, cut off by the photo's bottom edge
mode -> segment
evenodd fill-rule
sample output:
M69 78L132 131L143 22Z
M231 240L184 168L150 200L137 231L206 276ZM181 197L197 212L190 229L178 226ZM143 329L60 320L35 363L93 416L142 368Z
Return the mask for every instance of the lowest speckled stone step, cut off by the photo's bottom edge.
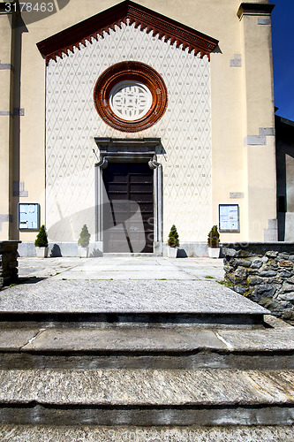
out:
M97 425L0 425L1 440L18 442L293 442L294 428L290 425L234 426L97 426Z

